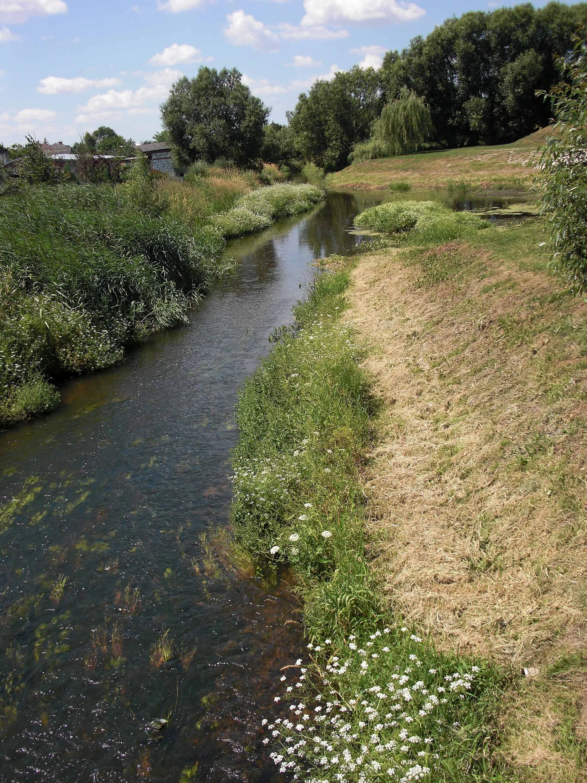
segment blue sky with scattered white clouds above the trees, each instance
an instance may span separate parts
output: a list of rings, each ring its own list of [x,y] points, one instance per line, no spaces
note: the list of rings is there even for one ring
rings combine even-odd
[[[137,143],[160,130],[180,76],[236,67],[286,121],[317,78],[379,67],[448,16],[495,0],[0,0],[0,142],[74,143],[109,125]],[[513,5],[506,2],[505,5]],[[535,5],[544,5],[537,2]]]

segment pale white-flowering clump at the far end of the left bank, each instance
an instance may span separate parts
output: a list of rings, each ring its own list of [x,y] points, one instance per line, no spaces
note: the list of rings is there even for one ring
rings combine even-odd
[[[313,185],[272,185],[241,196],[228,211],[214,215],[212,225],[223,236],[243,236],[271,226],[274,220],[296,215],[324,198],[324,191]]]

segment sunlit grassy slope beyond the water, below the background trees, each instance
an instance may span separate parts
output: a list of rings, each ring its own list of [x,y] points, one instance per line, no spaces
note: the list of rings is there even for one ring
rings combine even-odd
[[[463,147],[365,161],[329,175],[326,184],[331,189],[383,190],[401,182],[414,189],[466,182],[471,188],[524,189],[535,175],[535,170],[528,168],[528,160],[548,130],[542,128],[502,146]]]

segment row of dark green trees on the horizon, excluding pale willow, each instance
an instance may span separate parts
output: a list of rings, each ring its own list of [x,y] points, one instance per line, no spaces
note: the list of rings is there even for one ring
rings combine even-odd
[[[161,106],[164,134],[183,165],[225,157],[241,166],[311,161],[333,171],[371,138],[384,107],[402,96],[416,106],[415,96],[430,115],[420,148],[508,143],[548,124],[549,105],[536,93],[559,80],[556,58],[572,51],[585,23],[587,3],[524,3],[452,17],[402,52],[387,52],[379,70],[355,66],[316,81],[287,125],[267,124],[268,107],[238,70],[202,67],[171,88]]]

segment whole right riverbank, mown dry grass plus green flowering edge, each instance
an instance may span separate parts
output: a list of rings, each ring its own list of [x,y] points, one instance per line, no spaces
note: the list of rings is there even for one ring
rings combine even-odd
[[[335,727],[355,732],[296,707],[332,746],[325,762],[300,748],[312,737],[286,709],[268,716],[274,759],[302,780],[358,780],[370,754],[369,780],[418,763],[394,745],[394,713],[379,710],[376,742],[359,714],[394,674],[409,680],[410,660],[477,678],[466,718],[454,704],[434,716],[458,734],[430,743],[438,759],[423,749],[435,780],[584,779],[587,311],[549,276],[542,233],[532,220],[326,259],[297,309],[301,334],[283,333],[243,392],[237,536],[294,568],[314,645],[283,699],[300,687],[303,702],[330,700]],[[435,674],[418,677],[438,691]],[[431,711],[401,709],[413,736],[434,738]]]

